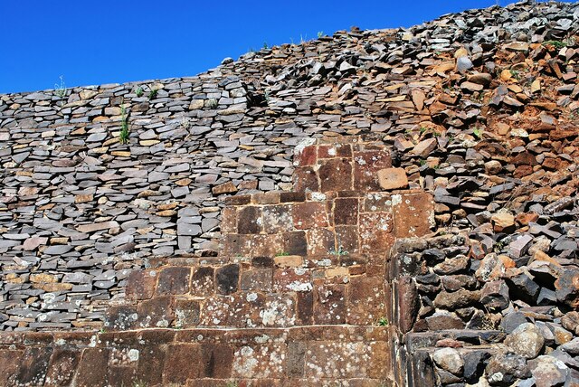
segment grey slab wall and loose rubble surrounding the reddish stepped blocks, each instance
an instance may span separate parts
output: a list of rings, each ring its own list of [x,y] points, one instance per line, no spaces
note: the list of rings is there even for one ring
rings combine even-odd
[[[441,384],[573,385],[578,26],[579,5],[519,3],[0,96],[0,328],[99,327],[132,269],[216,254],[225,196],[289,190],[303,139],[362,135],[436,202],[432,239],[393,252],[400,345]],[[470,333],[431,335],[450,328]]]

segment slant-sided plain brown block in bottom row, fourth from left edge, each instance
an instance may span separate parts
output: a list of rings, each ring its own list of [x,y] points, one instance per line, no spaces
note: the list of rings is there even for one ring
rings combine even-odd
[[[106,387],[109,385],[109,349],[85,348],[76,373],[79,387]]]

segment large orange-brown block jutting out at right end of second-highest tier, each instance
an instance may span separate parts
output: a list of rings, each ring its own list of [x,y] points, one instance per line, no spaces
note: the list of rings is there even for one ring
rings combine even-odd
[[[398,199],[399,198],[399,199]],[[392,196],[394,236],[422,237],[431,232],[434,200],[430,193],[409,193]]]

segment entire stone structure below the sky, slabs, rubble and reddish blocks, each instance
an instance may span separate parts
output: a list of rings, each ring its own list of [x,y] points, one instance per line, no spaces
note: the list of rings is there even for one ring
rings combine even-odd
[[[0,385],[579,384],[578,31],[525,2],[0,95]]]

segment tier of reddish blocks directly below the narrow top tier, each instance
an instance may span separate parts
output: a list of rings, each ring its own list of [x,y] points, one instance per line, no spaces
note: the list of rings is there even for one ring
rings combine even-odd
[[[385,257],[396,238],[433,222],[422,190],[261,193],[234,196],[223,210],[223,255],[355,253]]]

